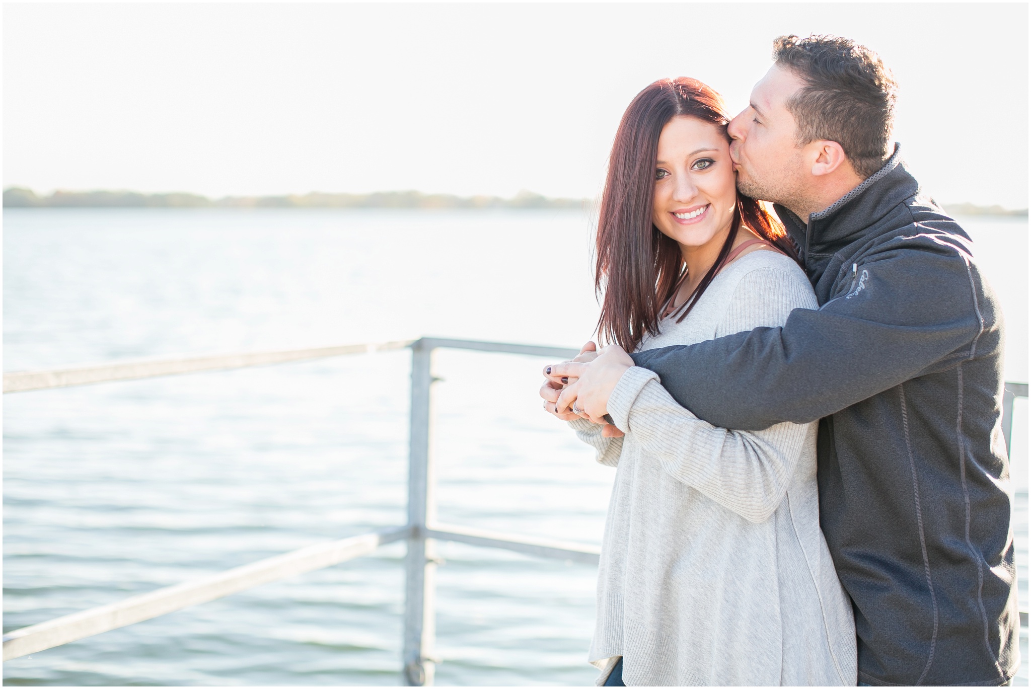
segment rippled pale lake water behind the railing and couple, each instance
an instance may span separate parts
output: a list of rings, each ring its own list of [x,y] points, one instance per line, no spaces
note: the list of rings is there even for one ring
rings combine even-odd
[[[4,370],[442,335],[577,347],[573,211],[6,209]],[[1028,380],[1028,225],[967,219]],[[408,354],[4,397],[4,630],[401,524]],[[540,359],[441,351],[442,521],[600,542]],[[1015,420],[1027,555],[1027,405]],[[442,685],[585,685],[592,567],[441,544]],[[5,663],[6,684],[393,685],[403,546]],[[1027,600],[1022,567],[1022,600]],[[1025,649],[1025,657],[1027,656]]]

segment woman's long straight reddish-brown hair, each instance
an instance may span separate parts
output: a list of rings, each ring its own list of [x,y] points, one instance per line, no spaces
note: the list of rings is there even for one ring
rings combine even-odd
[[[598,218],[594,286],[604,293],[599,337],[627,352],[637,349],[644,333],[659,332],[660,309],[673,296],[686,270],[679,244],[652,222],[659,135],[666,123],[681,116],[713,124],[725,133],[730,123],[723,97],[709,87],[686,76],[662,79],[630,103],[612,144]],[[712,282],[742,222],[789,256],[797,256],[784,226],[759,201],[738,192],[730,234],[678,322]]]

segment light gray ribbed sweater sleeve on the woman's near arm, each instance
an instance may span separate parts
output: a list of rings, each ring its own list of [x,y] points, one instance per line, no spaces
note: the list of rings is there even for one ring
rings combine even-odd
[[[717,333],[778,325],[793,308],[816,305],[800,271],[759,268],[738,282]],[[759,431],[713,426],[680,406],[656,373],[636,366],[612,391],[608,413],[667,473],[751,522],[766,521],[777,508],[812,441],[807,424]]]

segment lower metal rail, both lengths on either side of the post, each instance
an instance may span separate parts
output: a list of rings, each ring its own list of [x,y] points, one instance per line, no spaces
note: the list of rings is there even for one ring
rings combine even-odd
[[[341,540],[307,546],[201,580],[167,586],[114,603],[15,629],[3,635],[3,659],[5,661],[12,660],[30,653],[45,651],[55,646],[62,646],[87,636],[126,627],[185,608],[239,593],[262,584],[330,567],[369,555],[379,546],[408,538],[412,535],[411,530],[409,526],[401,526]],[[526,555],[572,560],[593,565],[598,564],[600,553],[597,548],[580,544],[511,536],[496,531],[442,524],[438,525],[438,528],[427,529],[423,537],[502,548]]]

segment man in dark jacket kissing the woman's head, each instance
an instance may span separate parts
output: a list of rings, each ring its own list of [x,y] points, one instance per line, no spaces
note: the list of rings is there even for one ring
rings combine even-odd
[[[773,57],[730,124],[731,156],[740,191],[774,202],[820,309],[689,347],[609,347],[552,366],[578,380],[541,396],[605,423],[636,365],[717,426],[821,419],[821,526],[853,600],[860,683],[1006,684],[1020,619],[999,303],[967,234],[889,150],[879,58],[823,36],[777,38]]]

